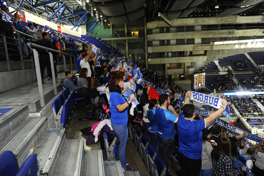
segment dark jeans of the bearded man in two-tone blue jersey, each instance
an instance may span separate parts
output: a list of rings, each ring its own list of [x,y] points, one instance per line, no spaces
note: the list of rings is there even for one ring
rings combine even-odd
[[[167,169],[169,168],[170,157],[172,156],[172,151],[174,148],[174,138],[161,138],[159,135],[159,156],[161,160],[165,163]]]

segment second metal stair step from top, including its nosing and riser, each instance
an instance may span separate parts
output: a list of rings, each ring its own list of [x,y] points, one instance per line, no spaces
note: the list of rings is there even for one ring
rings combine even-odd
[[[36,146],[40,136],[47,129],[47,118],[30,117],[18,128],[12,131],[0,143],[0,153],[11,150],[18,160],[20,167],[25,161],[29,150]]]

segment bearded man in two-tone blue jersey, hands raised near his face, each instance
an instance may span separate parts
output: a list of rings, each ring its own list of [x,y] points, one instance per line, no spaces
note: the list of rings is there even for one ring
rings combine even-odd
[[[170,105],[168,94],[160,94],[159,101],[161,106],[155,114],[158,124],[159,156],[168,169],[174,148],[174,123],[177,123],[179,115]]]

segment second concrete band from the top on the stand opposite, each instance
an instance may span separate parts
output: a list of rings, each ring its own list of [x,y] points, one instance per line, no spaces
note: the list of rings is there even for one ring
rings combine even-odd
[[[169,33],[153,33],[149,34],[148,41],[153,40],[170,40],[185,38],[209,38],[209,37],[236,37],[236,36],[260,36],[261,29],[225,29],[210,31],[189,31],[189,32],[169,32]]]

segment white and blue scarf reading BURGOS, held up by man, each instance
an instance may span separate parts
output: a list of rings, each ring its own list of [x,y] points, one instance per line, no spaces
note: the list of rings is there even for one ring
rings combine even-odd
[[[221,108],[222,106],[222,98],[219,98],[213,95],[207,95],[205,93],[199,93],[199,92],[192,91],[190,100],[194,100],[198,103],[206,104],[206,105],[209,105],[217,109]],[[226,118],[228,118],[228,120],[231,121],[229,104],[226,105],[226,109],[223,112],[223,114],[226,116]]]

